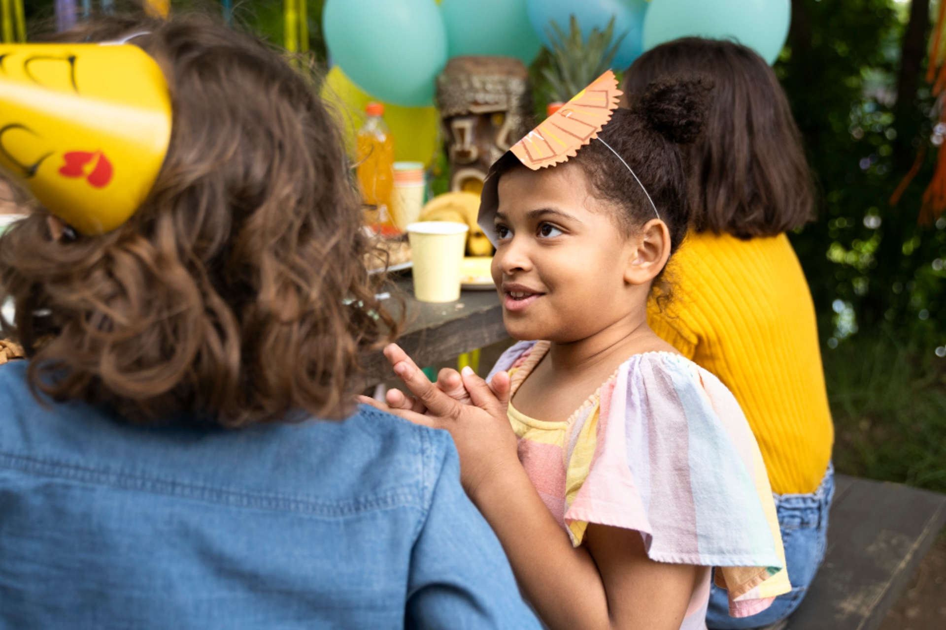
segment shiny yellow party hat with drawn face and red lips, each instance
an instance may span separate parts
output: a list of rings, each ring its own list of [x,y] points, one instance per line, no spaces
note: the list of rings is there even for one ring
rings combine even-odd
[[[165,160],[161,68],[131,44],[0,44],[0,167],[83,234],[127,221]]]

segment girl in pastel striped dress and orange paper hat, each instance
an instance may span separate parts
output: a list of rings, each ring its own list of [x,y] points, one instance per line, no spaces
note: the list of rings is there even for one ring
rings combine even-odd
[[[735,616],[790,585],[743,412],[647,325],[689,223],[678,145],[706,89],[663,81],[614,111],[616,88],[610,73],[588,86],[486,180],[493,279],[522,341],[488,383],[464,368],[439,385],[389,346],[413,396],[377,404],[453,435],[467,494],[550,628],[705,628],[711,579]]]

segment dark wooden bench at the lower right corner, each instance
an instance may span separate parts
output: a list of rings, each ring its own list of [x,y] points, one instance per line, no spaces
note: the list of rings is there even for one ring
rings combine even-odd
[[[946,495],[837,475],[824,564],[784,627],[875,630],[944,525]]]

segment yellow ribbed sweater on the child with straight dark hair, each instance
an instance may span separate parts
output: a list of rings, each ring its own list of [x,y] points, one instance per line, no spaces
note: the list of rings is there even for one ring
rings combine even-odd
[[[673,297],[662,311],[651,300],[651,327],[739,400],[772,491],[814,492],[834,429],[815,304],[788,237],[690,233],[667,280]]]

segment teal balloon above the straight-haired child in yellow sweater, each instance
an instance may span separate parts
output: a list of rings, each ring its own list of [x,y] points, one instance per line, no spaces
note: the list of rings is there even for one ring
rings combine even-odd
[[[791,0],[652,0],[644,17],[644,50],[681,37],[734,40],[771,64],[785,45],[791,18]]]

